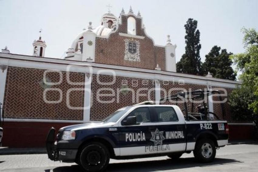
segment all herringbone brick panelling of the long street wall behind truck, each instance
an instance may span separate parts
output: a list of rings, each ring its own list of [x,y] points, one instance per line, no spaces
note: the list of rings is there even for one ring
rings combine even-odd
[[[8,67],[7,71],[7,81],[5,89],[5,118],[15,118],[15,119],[60,119],[60,120],[83,120],[83,110],[73,110],[66,105],[66,92],[70,88],[83,88],[80,85],[70,85],[66,81],[66,73],[63,74],[63,81],[59,85],[53,85],[51,88],[60,88],[62,90],[62,101],[60,103],[49,104],[43,100],[42,86],[44,70],[39,69],[27,69],[20,67]],[[47,73],[47,78],[49,82],[58,82],[59,73],[51,72]],[[84,82],[84,74],[82,73],[71,73],[70,79],[73,82]],[[100,75],[99,80],[101,82],[111,82],[113,80],[112,76]],[[127,81],[127,87],[124,87],[122,82]],[[144,80],[148,84],[143,85],[142,79],[134,79],[127,77],[116,77],[115,83],[111,85],[101,85],[97,82],[97,75],[93,75],[92,88],[92,108],[90,112],[90,120],[102,120],[112,112],[124,106],[133,105],[138,102],[148,100],[147,96],[133,98],[133,93],[127,91],[126,94],[119,93],[119,100],[117,100],[117,89],[119,88],[132,88],[134,90],[134,96],[139,88],[154,88],[153,80]],[[135,84],[137,83],[137,84]],[[179,84],[178,82],[167,82],[161,81],[161,89],[164,89],[167,93],[171,88],[185,88],[187,91],[189,89],[205,89],[206,85],[198,84]],[[100,100],[110,101],[114,99],[112,103],[101,103],[97,101],[97,91],[100,88],[111,88],[114,90],[114,96],[112,97],[100,97]],[[141,93],[147,93],[147,91],[142,91]],[[228,94],[232,89],[226,89]],[[171,94],[175,94],[182,90],[174,90]],[[110,94],[111,91],[100,91],[100,94]],[[70,105],[73,107],[83,107],[83,91],[72,91],[70,94]],[[161,97],[164,96],[164,92],[161,91]],[[154,100],[154,91],[151,92],[151,100]],[[59,100],[60,95],[58,91],[48,91],[46,93],[46,99],[48,101]],[[218,100],[218,98],[213,98]],[[224,98],[223,98],[224,99]],[[166,102],[166,104],[169,104]],[[178,104],[180,108],[184,108],[183,104]],[[191,111],[191,103],[188,102],[188,111]],[[195,105],[196,107],[197,105]],[[101,107],[101,108],[99,108]],[[222,118],[222,111],[220,104],[213,104],[214,113]],[[224,103],[225,117],[226,120],[232,122],[231,112],[229,104]],[[194,109],[197,111],[197,108]]]

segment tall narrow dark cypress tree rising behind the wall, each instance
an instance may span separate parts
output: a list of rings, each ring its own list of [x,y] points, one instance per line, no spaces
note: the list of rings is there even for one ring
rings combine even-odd
[[[185,24],[185,54],[177,63],[177,72],[186,74],[202,74],[200,58],[200,32],[197,21],[189,18]]]

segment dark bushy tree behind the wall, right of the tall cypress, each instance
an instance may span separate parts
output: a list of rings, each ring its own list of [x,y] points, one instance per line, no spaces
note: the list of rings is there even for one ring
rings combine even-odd
[[[232,60],[229,58],[233,53],[228,53],[226,49],[221,50],[219,46],[213,46],[211,51],[205,55],[205,62],[203,63],[203,73],[208,72],[213,77],[221,79],[236,80],[236,72],[232,69]]]

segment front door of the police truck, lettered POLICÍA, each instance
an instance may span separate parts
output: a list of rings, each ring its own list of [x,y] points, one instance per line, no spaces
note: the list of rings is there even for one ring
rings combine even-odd
[[[136,116],[136,125],[123,125],[129,116]],[[138,107],[122,119],[119,127],[120,156],[145,154],[146,146],[151,145],[151,132],[155,131],[152,119],[148,107]]]

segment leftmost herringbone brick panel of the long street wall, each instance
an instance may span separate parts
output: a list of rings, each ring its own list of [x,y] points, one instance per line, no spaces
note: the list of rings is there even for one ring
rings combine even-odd
[[[60,88],[63,99],[60,103],[49,104],[44,102],[42,88],[44,70],[28,69],[21,67],[8,67],[5,86],[5,118],[17,119],[61,119],[82,120],[83,110],[72,110],[66,106],[66,92],[70,88],[84,88],[83,85],[70,85],[66,81],[66,73],[63,81],[51,88]],[[47,73],[49,82],[58,82],[59,73]],[[84,82],[83,73],[70,73],[70,81]],[[83,107],[83,91],[72,91],[70,93],[70,105]],[[58,91],[46,92],[48,101],[58,101]]]

